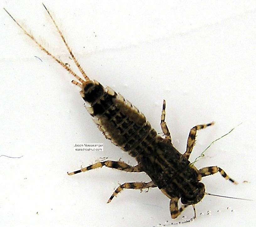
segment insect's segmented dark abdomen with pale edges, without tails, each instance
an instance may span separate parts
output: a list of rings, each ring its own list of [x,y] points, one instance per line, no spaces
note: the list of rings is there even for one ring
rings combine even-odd
[[[107,139],[133,157],[145,151],[153,152],[157,132],[130,102],[96,81],[85,85],[80,93],[90,105],[88,112]]]

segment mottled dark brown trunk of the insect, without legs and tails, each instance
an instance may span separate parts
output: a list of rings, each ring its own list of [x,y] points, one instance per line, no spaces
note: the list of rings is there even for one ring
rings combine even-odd
[[[135,157],[138,169],[146,172],[164,194],[169,198],[198,196],[203,187],[198,183],[198,170],[190,166],[170,139],[157,135],[136,107],[98,82],[89,81],[80,94],[105,137]]]

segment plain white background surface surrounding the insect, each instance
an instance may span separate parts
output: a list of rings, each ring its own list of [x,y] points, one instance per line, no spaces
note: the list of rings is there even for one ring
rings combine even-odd
[[[243,122],[196,166],[218,165],[239,182],[215,174],[202,180],[207,192],[255,200],[255,1],[44,3],[89,77],[120,92],[159,133],[166,99],[166,121],[181,153],[191,127],[216,122],[198,132],[191,161]],[[106,204],[119,184],[148,181],[146,174],[108,168],[66,174],[104,157],[136,162],[104,138],[72,76],[3,7],[74,68],[41,0],[1,3],[0,154],[23,155],[0,157],[1,226],[163,226],[192,217],[189,207],[172,220],[169,199],[157,189],[127,189]],[[74,143],[104,143],[104,152],[75,153]],[[198,218],[183,226],[254,226],[254,206],[205,196]]]

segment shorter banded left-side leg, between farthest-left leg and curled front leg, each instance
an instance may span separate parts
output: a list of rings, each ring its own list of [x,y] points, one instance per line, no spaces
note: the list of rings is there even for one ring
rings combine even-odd
[[[115,189],[114,193],[110,196],[109,200],[107,203],[110,203],[111,200],[116,196],[118,193],[123,191],[123,189],[145,189],[145,188],[155,188],[157,185],[150,181],[150,182],[131,182],[131,183],[124,183],[120,185],[117,189]]]

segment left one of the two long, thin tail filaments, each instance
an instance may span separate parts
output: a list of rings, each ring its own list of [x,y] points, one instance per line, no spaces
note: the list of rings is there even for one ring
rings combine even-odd
[[[69,73],[71,73],[77,80],[79,80],[79,82],[81,82],[82,84],[85,83],[85,81],[82,78],[80,78],[79,76],[77,76],[77,74],[72,69],[70,69],[67,65],[65,65],[60,59],[58,59],[54,55],[52,55],[48,50],[46,50],[46,48],[44,46],[42,46],[40,43],[38,43],[37,40],[35,39],[35,37],[32,34],[30,34],[29,32],[27,32],[25,30],[25,28],[23,28],[5,8],[3,8],[3,9],[5,10],[6,13],[8,13],[8,15],[13,19],[13,21],[23,30],[23,32],[27,36],[29,36],[37,44],[37,46],[40,47],[40,49],[42,51],[44,51],[45,53],[50,55],[57,63],[59,63],[63,68],[65,68]],[[82,88],[82,84],[77,83],[76,85]]]

